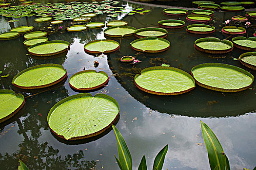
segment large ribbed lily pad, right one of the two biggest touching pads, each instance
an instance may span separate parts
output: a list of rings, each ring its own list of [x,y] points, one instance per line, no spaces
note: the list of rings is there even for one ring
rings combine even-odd
[[[198,85],[222,92],[245,90],[254,81],[254,76],[248,71],[222,63],[199,64],[192,68],[191,73]]]

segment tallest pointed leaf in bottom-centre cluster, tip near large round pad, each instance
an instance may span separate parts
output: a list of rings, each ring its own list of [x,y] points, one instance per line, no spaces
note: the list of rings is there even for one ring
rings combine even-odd
[[[132,156],[125,143],[125,140],[116,126],[112,125],[115,132],[117,145],[118,145],[118,157],[123,170],[132,170]]]

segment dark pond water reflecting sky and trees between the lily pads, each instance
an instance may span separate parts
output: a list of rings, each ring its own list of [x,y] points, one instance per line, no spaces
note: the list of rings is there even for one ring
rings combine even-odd
[[[56,3],[55,0],[42,3]],[[168,18],[163,15],[163,8],[143,6],[122,1],[120,6],[136,9],[144,7],[151,9],[146,15],[118,17],[129,22],[135,28],[158,27],[158,21]],[[175,4],[174,4],[175,5]],[[186,5],[185,5],[186,6]],[[188,5],[191,7],[191,5]],[[221,34],[223,21],[245,12],[215,12],[210,25],[216,27],[216,33],[208,37],[229,39]],[[124,16],[124,15],[123,15]],[[108,21],[116,18],[98,15],[93,21]],[[181,17],[181,20],[186,20]],[[250,20],[252,27],[245,36],[253,36],[256,22]],[[64,22],[69,25],[70,22]],[[191,24],[186,21],[186,26]],[[232,25],[235,23],[231,23]],[[49,23],[35,23],[34,17],[23,17],[20,21],[10,24],[4,17],[0,18],[0,32],[9,31],[13,27],[33,25],[35,30],[44,30]],[[26,103],[21,111],[13,118],[0,124],[0,167],[4,170],[14,170],[18,167],[18,159],[22,159],[31,170],[116,170],[118,165],[114,158],[117,153],[117,144],[114,132],[110,129],[96,138],[66,142],[53,135],[47,124],[47,114],[50,108],[60,100],[77,94],[68,85],[68,79],[74,73],[86,69],[105,71],[109,77],[108,86],[91,92],[104,93],[114,97],[120,106],[120,118],[117,128],[125,138],[133,157],[136,169],[143,154],[146,156],[148,168],[151,169],[154,158],[166,144],[169,150],[166,155],[163,169],[166,170],[206,170],[209,169],[207,151],[203,143],[200,120],[207,123],[216,133],[222,147],[229,157],[233,170],[243,168],[253,169],[256,164],[256,83],[251,89],[237,93],[215,92],[202,87],[177,96],[150,95],[135,88],[133,77],[143,68],[159,66],[163,63],[172,67],[181,68],[190,72],[197,64],[206,62],[226,63],[250,71],[237,60],[245,51],[234,50],[225,55],[211,55],[194,49],[196,39],[202,35],[186,33],[186,29],[168,30],[168,39],[171,48],[168,51],[149,54],[133,51],[130,43],[134,36],[126,38],[112,38],[120,42],[120,51],[109,55],[92,56],[83,50],[84,44],[96,39],[105,39],[103,30],[91,29],[79,33],[67,33],[65,30],[49,34],[49,40],[65,40],[71,43],[67,53],[58,56],[39,59],[26,55],[27,49],[23,46],[23,37],[14,40],[0,41],[0,70],[7,78],[0,78],[0,89],[13,89],[22,93]],[[124,55],[136,55],[142,62],[126,65],[119,62]],[[99,62],[94,68],[93,62]],[[56,63],[67,69],[68,79],[62,84],[55,85],[42,92],[20,91],[11,85],[13,77],[21,70],[38,64]],[[47,91],[46,91],[47,90]],[[42,92],[42,93],[40,93]],[[39,94],[37,94],[39,93]],[[36,94],[36,95],[34,95]],[[34,95],[31,96],[30,95]],[[209,104],[210,101],[217,103]],[[211,102],[210,102],[211,103]],[[202,143],[202,144],[201,144]],[[202,145],[202,146],[201,146]]]

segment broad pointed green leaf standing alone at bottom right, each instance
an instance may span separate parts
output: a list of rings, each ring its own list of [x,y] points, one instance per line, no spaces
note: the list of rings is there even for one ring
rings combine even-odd
[[[217,168],[217,170],[225,170],[226,167],[226,155],[217,136],[210,129],[207,124],[201,121],[201,129],[203,134],[204,143],[207,149],[208,158],[211,170]],[[227,162],[228,163],[228,162]],[[229,163],[228,166],[229,167]]]

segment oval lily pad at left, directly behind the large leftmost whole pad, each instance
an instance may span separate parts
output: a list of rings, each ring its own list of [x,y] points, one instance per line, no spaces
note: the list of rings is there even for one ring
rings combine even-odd
[[[69,42],[54,40],[30,46],[28,52],[35,56],[51,56],[66,51],[68,47]]]

